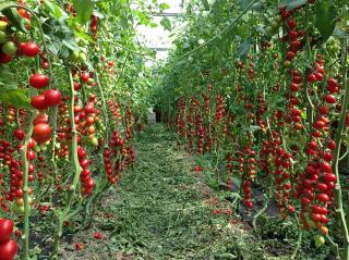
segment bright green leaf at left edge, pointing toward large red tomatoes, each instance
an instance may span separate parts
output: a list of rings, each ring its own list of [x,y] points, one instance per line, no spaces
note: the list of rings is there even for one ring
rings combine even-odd
[[[0,91],[0,101],[15,108],[31,108],[27,91],[24,89],[10,89]]]

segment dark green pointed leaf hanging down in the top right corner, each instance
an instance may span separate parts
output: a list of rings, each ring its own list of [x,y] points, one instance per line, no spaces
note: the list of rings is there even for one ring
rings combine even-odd
[[[333,34],[336,27],[337,9],[330,1],[316,1],[316,21],[315,26],[325,42]]]

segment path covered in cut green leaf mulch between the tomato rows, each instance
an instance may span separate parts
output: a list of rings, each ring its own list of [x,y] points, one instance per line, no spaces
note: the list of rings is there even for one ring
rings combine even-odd
[[[284,249],[263,244],[234,213],[212,213],[229,202],[209,203],[215,193],[204,183],[206,173],[193,171],[195,160],[177,151],[166,126],[148,126],[135,147],[135,168],[103,200],[94,227],[63,245],[63,259],[290,259],[291,251],[273,257]],[[104,239],[93,238],[97,231]],[[76,243],[84,249],[76,251]]]

